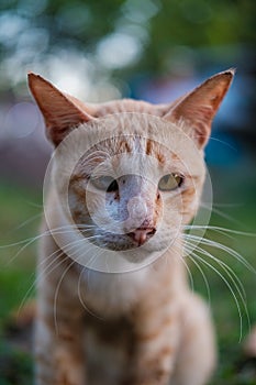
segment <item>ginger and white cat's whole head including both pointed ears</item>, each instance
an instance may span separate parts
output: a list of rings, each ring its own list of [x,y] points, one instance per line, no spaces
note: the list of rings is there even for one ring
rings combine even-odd
[[[180,237],[199,206],[203,147],[233,76],[220,73],[170,105],[84,105],[29,75],[56,146],[58,199],[82,237],[103,250],[132,251],[124,254],[134,262]]]

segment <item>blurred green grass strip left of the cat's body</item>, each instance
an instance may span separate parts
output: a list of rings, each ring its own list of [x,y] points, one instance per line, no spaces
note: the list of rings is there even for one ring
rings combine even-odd
[[[34,296],[36,244],[19,242],[36,235],[42,202],[40,194],[5,184],[0,207],[0,385],[30,385],[31,354],[5,334],[12,314]]]

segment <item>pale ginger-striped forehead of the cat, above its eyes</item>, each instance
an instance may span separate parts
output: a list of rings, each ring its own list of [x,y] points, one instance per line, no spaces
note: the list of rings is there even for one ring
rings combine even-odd
[[[57,148],[58,169],[73,174],[97,165],[112,168],[143,162],[186,174],[201,173],[202,153],[178,125],[146,113],[115,113],[81,124]],[[147,160],[147,161],[145,161]],[[188,173],[186,170],[189,170]],[[130,172],[130,173],[131,173]]]

